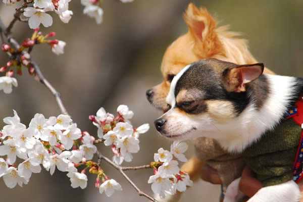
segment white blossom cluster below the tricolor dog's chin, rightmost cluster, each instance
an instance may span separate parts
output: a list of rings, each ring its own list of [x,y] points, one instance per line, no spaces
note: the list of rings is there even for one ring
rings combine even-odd
[[[170,151],[159,148],[158,153],[154,155],[155,162],[151,163],[154,167],[154,175],[149,177],[148,183],[153,183],[151,189],[161,198],[165,198],[167,193],[173,195],[177,190],[185,191],[186,186],[192,185],[189,175],[180,171],[178,162],[172,160],[174,156],[179,161],[186,162],[183,153],[187,147],[185,142],[174,141]]]

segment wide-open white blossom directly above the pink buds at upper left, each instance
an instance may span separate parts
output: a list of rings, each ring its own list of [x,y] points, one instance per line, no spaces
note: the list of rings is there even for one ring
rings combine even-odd
[[[27,7],[24,9],[23,15],[29,17],[28,25],[31,29],[36,29],[41,23],[44,27],[49,27],[53,24],[52,16],[47,14],[45,9]]]

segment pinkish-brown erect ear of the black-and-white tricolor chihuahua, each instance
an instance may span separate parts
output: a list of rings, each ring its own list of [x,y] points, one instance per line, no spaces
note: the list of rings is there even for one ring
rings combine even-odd
[[[223,85],[228,92],[244,92],[245,84],[261,76],[263,70],[263,63],[228,68],[223,72]]]

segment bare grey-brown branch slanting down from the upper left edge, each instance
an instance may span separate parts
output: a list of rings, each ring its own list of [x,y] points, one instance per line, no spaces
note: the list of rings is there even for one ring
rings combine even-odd
[[[0,19],[0,32],[3,33],[4,30],[8,30],[5,25],[3,24],[2,20]],[[11,36],[11,34],[4,33],[7,37],[8,37],[8,41],[9,43],[11,43],[11,45],[15,48],[18,49],[20,47],[20,44]],[[38,75],[39,81],[45,85],[49,91],[52,92],[52,94],[55,96],[57,104],[60,108],[61,114],[65,114],[65,115],[69,115],[67,110],[65,109],[61,97],[60,97],[60,93],[52,86],[51,83],[49,83],[43,76],[39,66],[36,64],[36,62],[32,59],[30,59],[31,64],[33,65],[33,67],[35,68],[35,71]]]

